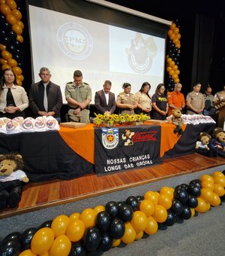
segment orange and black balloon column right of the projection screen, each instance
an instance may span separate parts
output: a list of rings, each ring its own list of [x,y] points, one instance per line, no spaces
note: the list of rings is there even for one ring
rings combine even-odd
[[[168,30],[168,55],[166,55],[166,72],[167,72],[167,81],[169,91],[173,90],[174,84],[179,83],[180,79],[178,75],[180,74],[179,66],[179,56],[181,48],[181,34],[179,33],[178,20],[175,23],[172,21],[172,24],[169,26]]]

